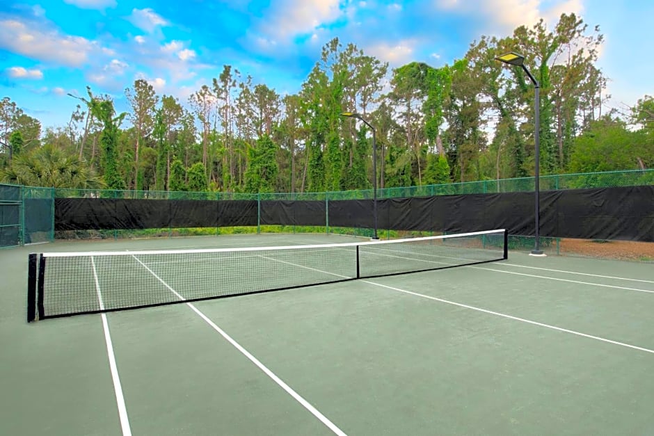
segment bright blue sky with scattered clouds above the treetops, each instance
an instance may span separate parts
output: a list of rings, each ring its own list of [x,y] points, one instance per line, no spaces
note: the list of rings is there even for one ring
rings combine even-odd
[[[63,126],[78,103],[67,93],[84,96],[87,85],[119,110],[136,79],[186,102],[225,64],[284,94],[299,90],[334,37],[391,67],[439,67],[481,35],[541,17],[552,26],[564,12],[605,35],[609,106],[654,94],[651,0],[1,0],[0,97],[44,127]]]

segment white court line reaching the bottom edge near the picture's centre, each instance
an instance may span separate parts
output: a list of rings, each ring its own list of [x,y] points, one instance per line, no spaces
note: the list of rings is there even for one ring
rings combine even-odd
[[[139,259],[138,259],[136,256],[134,256],[134,255],[132,255],[132,257],[134,257],[134,259],[136,259],[136,261],[138,261],[138,263],[141,264],[141,265],[143,266],[143,268],[145,268],[147,271],[149,271],[150,274],[152,274],[152,275],[154,276],[154,278],[156,278],[157,280],[159,280],[159,282],[161,282],[161,284],[163,284],[163,286],[166,286],[166,288],[167,288],[170,292],[174,293],[175,296],[177,296],[177,298],[179,298],[179,299],[182,300],[182,301],[186,301],[186,298],[184,298],[183,296],[181,296],[180,293],[177,293],[177,291],[175,291],[175,289],[173,289],[172,287],[170,287],[170,286],[168,285],[168,283],[164,282],[164,281],[161,279],[161,277],[159,277],[157,274],[155,274],[154,271],[152,271],[150,268],[147,267],[147,265],[143,264],[143,262],[142,262],[141,260],[139,260]],[[335,425],[335,423],[333,423],[332,421],[330,421],[330,420],[329,420],[329,419],[328,419],[324,414],[322,414],[321,412],[319,412],[319,410],[317,410],[315,407],[313,407],[313,405],[311,405],[311,403],[309,403],[308,401],[306,401],[306,400],[305,400],[305,399],[304,399],[300,394],[298,394],[296,391],[294,391],[294,390],[292,389],[292,387],[290,387],[289,385],[287,385],[287,384],[284,382],[284,380],[282,380],[281,378],[279,378],[275,373],[273,373],[273,371],[271,371],[271,370],[268,369],[264,364],[262,364],[262,362],[260,362],[260,360],[258,360],[258,359],[257,359],[254,355],[252,355],[248,350],[246,350],[243,346],[241,346],[241,344],[239,344],[237,341],[235,341],[234,339],[232,339],[232,337],[230,337],[229,334],[227,334],[223,329],[221,329],[220,327],[218,327],[218,325],[216,325],[216,324],[215,324],[211,319],[209,319],[205,314],[203,314],[202,312],[200,312],[200,309],[198,309],[197,307],[195,307],[195,306],[194,306],[193,304],[191,304],[190,302],[186,302],[185,304],[186,304],[187,306],[189,306],[189,307],[191,308],[191,310],[193,310],[193,312],[196,312],[196,314],[198,314],[198,316],[200,316],[200,318],[202,318],[203,320],[205,320],[205,322],[206,322],[207,324],[209,324],[209,325],[211,326],[211,328],[213,328],[214,330],[216,330],[216,332],[218,332],[219,334],[221,334],[221,336],[222,336],[223,338],[225,338],[225,340],[228,341],[230,344],[232,344],[232,346],[234,346],[234,348],[236,348],[237,350],[239,350],[239,351],[241,352],[242,355],[244,355],[245,357],[247,357],[248,360],[250,360],[250,362],[252,362],[253,364],[255,364],[255,365],[256,365],[256,366],[257,366],[261,371],[263,371],[263,372],[266,374],[266,376],[269,376],[269,378],[271,378],[274,382],[276,382],[277,385],[279,385],[279,387],[281,387],[282,389],[284,389],[284,390],[287,392],[287,394],[289,394],[290,396],[292,396],[292,397],[293,397],[293,398],[294,398],[298,403],[300,403],[301,405],[303,405],[303,407],[305,407],[306,410],[308,410],[309,412],[311,412],[311,414],[312,414],[314,417],[316,417],[316,418],[319,419],[322,423],[324,423],[325,426],[327,426],[330,430],[333,431],[333,433],[335,433],[336,435],[339,435],[339,436],[346,436],[346,434],[345,434],[345,433],[344,433],[340,428],[338,428],[338,427]]]

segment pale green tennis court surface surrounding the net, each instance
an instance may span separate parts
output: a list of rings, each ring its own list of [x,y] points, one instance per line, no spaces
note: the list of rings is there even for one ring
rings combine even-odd
[[[25,321],[29,252],[352,241],[236,235],[1,250],[0,434],[654,434],[652,264],[509,252],[440,271]],[[185,286],[167,271],[156,268],[162,292]],[[70,286],[84,274],[72,271]]]

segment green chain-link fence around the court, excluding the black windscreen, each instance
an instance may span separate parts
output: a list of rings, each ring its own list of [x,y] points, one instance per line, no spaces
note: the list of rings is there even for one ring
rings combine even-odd
[[[540,177],[541,191],[579,188],[604,188],[612,186],[639,186],[654,184],[654,169],[611,172],[589,172],[580,174],[544,175]],[[0,246],[13,246],[22,243],[38,243],[56,239],[122,239],[137,237],[171,237],[206,234],[233,234],[257,232],[320,232],[351,234],[353,236],[372,236],[373,229],[295,226],[295,225],[257,225],[256,227],[216,227],[201,229],[143,229],[143,230],[97,230],[54,232],[54,198],[122,198],[135,200],[289,200],[324,201],[332,200],[372,200],[372,189],[356,191],[329,191],[318,193],[225,193],[225,192],[170,192],[170,191],[111,191],[102,189],[61,189],[28,188],[0,185]],[[534,177],[519,179],[500,179],[469,181],[402,188],[380,188],[377,198],[427,197],[433,195],[465,195],[483,193],[507,193],[534,191]],[[393,232],[379,229],[381,238],[407,236],[410,232]],[[413,236],[413,235],[408,235]],[[420,236],[420,235],[415,235]],[[515,241],[514,245],[520,245]],[[529,245],[525,239],[525,245]]]

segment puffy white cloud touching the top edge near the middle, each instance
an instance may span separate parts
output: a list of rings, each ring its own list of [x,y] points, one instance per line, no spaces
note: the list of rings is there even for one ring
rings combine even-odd
[[[271,40],[289,40],[311,33],[340,17],[339,0],[280,0],[271,2],[260,31]]]

